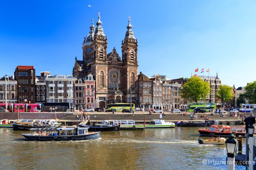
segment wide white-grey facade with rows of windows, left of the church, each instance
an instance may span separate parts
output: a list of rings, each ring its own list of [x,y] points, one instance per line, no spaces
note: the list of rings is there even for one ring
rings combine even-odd
[[[53,102],[70,102],[74,104],[74,81],[69,75],[46,75],[45,82],[47,88],[46,101]]]

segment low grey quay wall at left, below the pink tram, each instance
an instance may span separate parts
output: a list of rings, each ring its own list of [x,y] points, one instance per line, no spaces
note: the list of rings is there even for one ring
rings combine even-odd
[[[0,120],[9,119],[16,120],[17,113],[15,112],[0,112]],[[73,115],[73,113],[19,113],[19,119],[61,119],[67,116]]]

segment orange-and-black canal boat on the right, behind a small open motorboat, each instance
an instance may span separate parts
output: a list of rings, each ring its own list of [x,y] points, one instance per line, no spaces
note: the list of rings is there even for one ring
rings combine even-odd
[[[245,126],[230,127],[227,125],[211,125],[208,129],[198,129],[198,132],[203,136],[228,137],[232,132],[235,132],[236,136],[245,136]]]

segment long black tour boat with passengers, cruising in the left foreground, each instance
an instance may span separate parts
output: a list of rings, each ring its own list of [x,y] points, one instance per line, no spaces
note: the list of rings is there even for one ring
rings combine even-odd
[[[26,139],[38,141],[77,141],[100,138],[100,132],[88,132],[88,127],[31,128],[30,133],[21,135]]]

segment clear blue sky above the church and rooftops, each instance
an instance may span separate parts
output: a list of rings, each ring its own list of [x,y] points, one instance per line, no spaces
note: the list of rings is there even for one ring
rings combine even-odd
[[[223,84],[245,86],[256,80],[255,9],[253,0],[0,1],[0,77],[17,65],[72,75],[100,12],[108,53],[115,47],[120,57],[131,16],[138,72],[176,79],[209,68]]]

